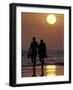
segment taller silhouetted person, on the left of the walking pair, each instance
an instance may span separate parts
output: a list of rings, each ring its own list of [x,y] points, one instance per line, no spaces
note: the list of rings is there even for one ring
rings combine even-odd
[[[33,41],[31,42],[29,52],[28,52],[28,58],[31,57],[31,61],[33,63],[33,75],[36,76],[35,74],[35,64],[36,64],[36,57],[37,57],[37,49],[38,49],[38,43],[36,42],[36,38],[32,38]]]

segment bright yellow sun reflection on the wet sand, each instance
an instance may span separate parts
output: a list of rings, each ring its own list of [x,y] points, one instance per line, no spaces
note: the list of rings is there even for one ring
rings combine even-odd
[[[56,76],[56,65],[47,65],[46,73],[47,76]]]

